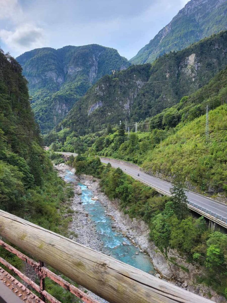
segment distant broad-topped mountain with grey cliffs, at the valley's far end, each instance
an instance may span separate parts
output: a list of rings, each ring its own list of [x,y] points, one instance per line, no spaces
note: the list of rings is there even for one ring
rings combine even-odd
[[[37,48],[16,59],[28,80],[31,106],[42,132],[59,123],[98,79],[130,65],[117,50],[96,44]]]

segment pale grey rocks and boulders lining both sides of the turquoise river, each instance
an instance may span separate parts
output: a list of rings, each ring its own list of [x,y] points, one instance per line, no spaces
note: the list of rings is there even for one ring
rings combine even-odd
[[[70,168],[61,164],[58,165],[57,169],[59,170],[59,175],[64,177],[65,170]],[[131,220],[128,215],[124,215],[118,208],[118,201],[110,201],[101,192],[97,179],[87,175],[75,176],[75,178],[82,184],[87,185],[94,192],[94,199],[99,200],[106,207],[106,214],[111,216],[115,221],[112,228],[122,231],[134,245],[140,246],[140,251],[150,255],[154,268],[158,272],[156,277],[165,278],[170,283],[174,283],[181,288],[209,298],[212,301],[219,303],[226,302],[224,297],[217,295],[211,288],[205,285],[196,285],[196,276],[201,274],[202,268],[196,264],[188,263],[184,256],[180,256],[176,250],[172,249],[168,252],[167,261],[158,248],[149,241],[149,228],[145,222],[136,219]],[[90,222],[83,205],[81,205],[81,189],[77,184],[75,184],[74,192],[75,197],[72,204],[74,215],[70,226],[72,238],[87,247],[109,254],[103,247],[95,231],[94,224]],[[73,236],[73,233],[76,235]]]

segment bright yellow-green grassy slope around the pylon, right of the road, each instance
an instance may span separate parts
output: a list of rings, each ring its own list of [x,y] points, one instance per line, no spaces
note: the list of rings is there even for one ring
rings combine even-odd
[[[205,137],[206,116],[196,118],[147,153],[143,168],[163,176],[182,171],[201,191],[222,188],[227,180],[227,105],[209,112],[209,141]]]

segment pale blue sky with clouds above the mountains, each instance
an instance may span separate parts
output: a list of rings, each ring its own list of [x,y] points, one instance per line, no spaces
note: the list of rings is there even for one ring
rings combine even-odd
[[[188,0],[0,0],[0,48],[100,44],[132,58]]]

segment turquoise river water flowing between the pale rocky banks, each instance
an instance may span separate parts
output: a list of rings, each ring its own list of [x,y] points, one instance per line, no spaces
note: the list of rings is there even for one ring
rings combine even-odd
[[[65,171],[64,179],[67,182],[74,182],[74,173],[70,170]],[[106,207],[99,200],[93,200],[94,192],[87,188],[87,185],[78,183],[81,187],[80,195],[81,205],[84,207],[85,214],[88,214],[88,220],[93,224],[96,231],[96,238],[102,242],[101,251],[107,255],[116,258],[124,263],[132,265],[151,275],[155,275],[150,256],[138,245],[133,245],[123,232],[116,230],[115,221],[107,215]],[[100,246],[98,247],[100,250]]]

